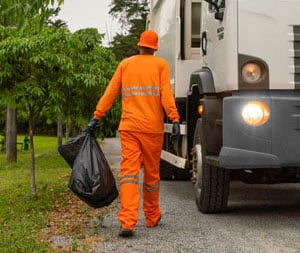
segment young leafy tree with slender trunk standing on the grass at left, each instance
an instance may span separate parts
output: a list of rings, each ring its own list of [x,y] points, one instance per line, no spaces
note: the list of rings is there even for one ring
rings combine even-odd
[[[67,73],[71,68],[71,61],[67,57],[59,55],[55,49],[57,43],[66,40],[67,33],[63,30],[44,29],[38,34],[28,34],[28,37],[18,36],[14,28],[2,27],[2,34],[9,34],[1,38],[0,71],[1,88],[4,90],[2,101],[7,104],[21,105],[28,113],[30,154],[31,154],[31,192],[36,197],[35,185],[35,161],[33,133],[34,123],[39,115],[44,113],[45,106],[50,103],[60,104],[61,93],[57,80],[54,80],[53,72],[59,69]],[[55,53],[52,53],[54,50]],[[63,75],[63,74],[61,74]],[[64,79],[64,85],[71,81]],[[56,86],[54,87],[55,84]],[[51,107],[49,113],[57,110]]]

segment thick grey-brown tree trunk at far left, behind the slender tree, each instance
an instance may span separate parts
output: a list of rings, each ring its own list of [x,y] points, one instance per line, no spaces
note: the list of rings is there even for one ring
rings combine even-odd
[[[8,162],[17,161],[17,124],[16,109],[7,107],[6,113],[6,160]]]

